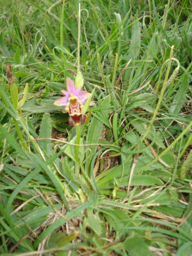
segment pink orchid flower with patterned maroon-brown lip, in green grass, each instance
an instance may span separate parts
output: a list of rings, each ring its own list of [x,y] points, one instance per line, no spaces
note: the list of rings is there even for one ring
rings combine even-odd
[[[82,114],[83,106],[91,94],[86,91],[80,91],[81,87],[75,88],[75,83],[70,78],[66,81],[67,91],[61,90],[64,97],[56,100],[54,105],[66,106],[65,110],[69,113],[68,122],[70,125],[84,124],[85,116]]]

